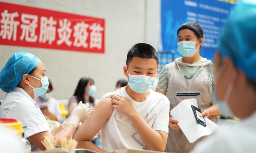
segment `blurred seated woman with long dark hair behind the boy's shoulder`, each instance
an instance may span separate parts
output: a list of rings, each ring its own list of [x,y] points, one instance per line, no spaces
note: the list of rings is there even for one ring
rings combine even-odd
[[[78,105],[80,101],[84,104],[89,103],[90,107],[96,106],[99,102],[99,99],[92,97],[92,95],[96,92],[96,86],[94,85],[94,81],[89,77],[82,77],[78,85],[76,87],[76,91],[74,96],[72,96],[68,102],[68,116],[72,113],[74,108]],[[78,124],[77,129],[82,125],[82,122]],[[91,142],[101,148],[101,133],[97,133]]]

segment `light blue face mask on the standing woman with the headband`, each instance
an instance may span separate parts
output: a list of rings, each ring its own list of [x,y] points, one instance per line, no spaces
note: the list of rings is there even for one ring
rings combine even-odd
[[[180,41],[178,42],[177,51],[180,53],[180,55],[184,57],[192,57],[196,54],[197,49],[200,47],[198,46],[197,48],[195,48],[195,44],[198,41]]]

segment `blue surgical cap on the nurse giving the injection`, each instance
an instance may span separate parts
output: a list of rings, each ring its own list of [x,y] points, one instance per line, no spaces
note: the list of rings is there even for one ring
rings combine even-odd
[[[28,52],[17,52],[10,57],[0,72],[0,88],[8,92],[16,88],[24,74],[28,74],[40,59]]]

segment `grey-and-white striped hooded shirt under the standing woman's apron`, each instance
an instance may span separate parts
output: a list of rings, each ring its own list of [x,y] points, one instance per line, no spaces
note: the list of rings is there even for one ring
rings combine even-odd
[[[156,87],[157,89],[167,91],[169,83],[170,83],[170,77],[172,76],[173,64],[176,64],[176,63],[171,62],[169,64],[166,64],[163,67],[162,71],[160,72],[159,81],[158,81],[158,84]],[[206,66],[206,70],[207,70],[206,77],[208,80],[210,95],[212,97],[212,93],[215,89],[215,85],[214,85],[214,76],[211,73],[210,68],[209,68],[210,66],[213,66],[213,63]],[[180,65],[180,64],[179,64],[179,67],[180,67],[180,77],[182,79],[192,79],[201,68],[201,67]],[[199,75],[199,73],[197,73],[196,77]]]

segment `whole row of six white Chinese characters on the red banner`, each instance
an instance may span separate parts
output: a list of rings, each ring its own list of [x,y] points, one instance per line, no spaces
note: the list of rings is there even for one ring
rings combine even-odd
[[[21,17],[17,18],[20,15]],[[41,44],[48,42],[48,45],[52,45],[53,43],[58,46],[67,45],[68,47],[73,47],[73,49],[74,47],[83,47],[101,50],[102,41],[104,39],[102,38],[104,27],[99,23],[93,23],[92,21],[86,23],[81,20],[80,22],[73,23],[74,26],[72,26],[72,22],[67,18],[57,21],[54,20],[52,16],[45,17],[26,13],[19,14],[17,11],[8,12],[8,10],[4,10],[1,12],[0,38],[2,38],[2,40],[8,39],[11,41],[12,39],[16,41],[18,37],[21,42],[37,42]],[[38,22],[40,22],[40,27],[38,27]],[[57,24],[59,24],[59,26]],[[18,34],[21,33],[21,35],[17,36],[17,32]],[[56,33],[58,33],[58,36],[56,36]]]

